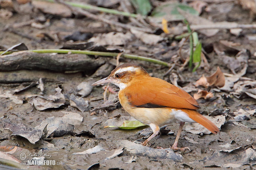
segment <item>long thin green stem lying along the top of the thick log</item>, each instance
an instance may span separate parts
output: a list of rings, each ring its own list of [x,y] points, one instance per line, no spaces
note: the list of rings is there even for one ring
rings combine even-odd
[[[99,51],[88,51],[88,50],[65,50],[65,49],[40,49],[40,50],[28,50],[34,53],[61,53],[61,54],[87,54],[87,55],[98,55],[98,56],[106,56],[106,57],[116,57],[119,53],[111,53],[111,52],[99,52]],[[2,54],[4,51],[0,51]],[[8,51],[10,54],[11,52]],[[123,54],[121,57],[128,58],[128,59],[138,59],[148,62],[153,62],[156,64],[164,65],[170,67],[171,65],[168,62],[161,61],[159,59],[152,59],[149,57],[131,55],[131,54]]]

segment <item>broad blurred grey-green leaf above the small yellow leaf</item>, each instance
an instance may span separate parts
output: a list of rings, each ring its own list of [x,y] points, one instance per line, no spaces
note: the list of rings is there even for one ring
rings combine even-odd
[[[194,8],[187,6],[182,3],[165,3],[163,5],[157,6],[151,13],[151,17],[154,17],[153,20],[161,22],[162,18],[165,18],[168,21],[180,21],[184,20],[184,17],[179,13],[177,8],[191,14],[198,16],[199,13]]]

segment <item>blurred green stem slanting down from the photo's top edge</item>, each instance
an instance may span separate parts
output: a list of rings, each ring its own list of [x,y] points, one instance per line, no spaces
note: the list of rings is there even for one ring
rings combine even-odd
[[[47,0],[47,1],[52,2],[52,3],[55,2],[54,0]],[[116,14],[116,15],[122,15],[122,16],[126,16],[126,17],[134,17],[134,18],[137,17],[137,14],[131,14],[129,12],[117,11],[114,9],[102,8],[102,7],[98,7],[98,6],[92,6],[92,5],[84,4],[84,3],[73,3],[73,2],[68,2],[68,1],[64,1],[64,3],[67,3],[68,5],[73,6],[73,7],[79,7],[79,8],[83,8],[83,9],[93,9],[96,11],[106,12],[109,14]]]

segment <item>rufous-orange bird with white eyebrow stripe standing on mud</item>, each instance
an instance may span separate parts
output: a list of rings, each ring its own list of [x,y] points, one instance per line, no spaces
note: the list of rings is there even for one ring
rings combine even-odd
[[[190,150],[188,147],[178,147],[185,122],[198,122],[214,134],[219,132],[214,123],[196,111],[199,108],[198,102],[190,94],[163,79],[151,77],[140,65],[119,65],[108,77],[92,85],[104,83],[118,86],[122,108],[153,130],[153,134],[142,143],[143,146],[158,135],[160,126],[173,122],[180,123],[180,127],[175,142],[170,147],[172,150]]]

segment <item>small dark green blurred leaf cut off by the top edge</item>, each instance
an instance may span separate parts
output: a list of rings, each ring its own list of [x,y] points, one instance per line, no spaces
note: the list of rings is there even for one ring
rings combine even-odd
[[[131,0],[131,3],[136,9],[137,14],[141,14],[143,16],[147,15],[152,8],[149,0]]]

